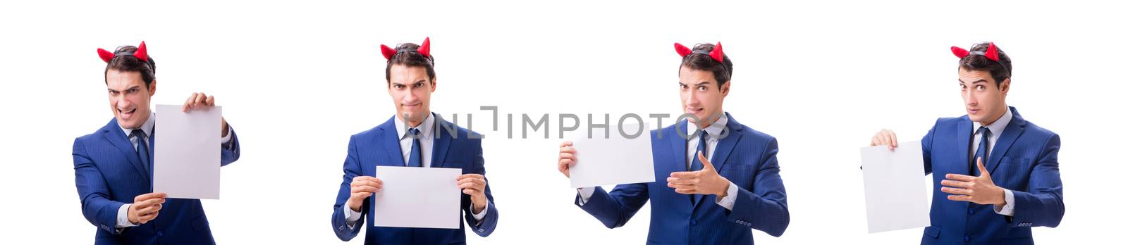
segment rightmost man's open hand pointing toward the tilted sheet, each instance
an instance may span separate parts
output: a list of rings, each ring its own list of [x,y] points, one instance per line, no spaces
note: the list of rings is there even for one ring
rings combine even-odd
[[[948,200],[1005,206],[1005,193],[990,180],[990,173],[984,167],[982,158],[976,158],[976,165],[979,166],[979,176],[949,173],[944,176],[948,180],[940,182],[944,185],[940,191],[950,193]]]

